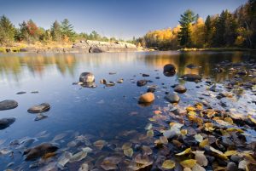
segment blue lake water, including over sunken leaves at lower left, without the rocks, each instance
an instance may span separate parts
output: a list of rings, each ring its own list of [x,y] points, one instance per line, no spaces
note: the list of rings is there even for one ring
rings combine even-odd
[[[153,117],[156,112],[166,112],[172,108],[164,96],[173,92],[171,86],[177,83],[187,88],[185,94],[178,94],[181,100],[175,105],[177,108],[185,108],[205,100],[212,108],[230,110],[242,116],[249,114],[255,119],[255,85],[250,88],[238,86],[229,90],[226,85],[236,73],[226,68],[224,71],[216,70],[219,67],[217,65],[221,66],[224,62],[246,64],[234,65],[241,68],[251,66],[249,69],[245,68],[250,70],[247,71],[249,73],[240,77],[241,82],[247,83],[253,79],[255,81],[255,61],[256,55],[252,52],[0,54],[0,101],[16,100],[19,103],[15,109],[0,111],[0,118],[16,118],[15,123],[0,130],[0,149],[6,151],[6,154],[3,151],[4,154],[0,153],[0,170],[55,170],[60,168],[56,162],[60,160],[63,151],[74,154],[86,146],[90,146],[92,152],[77,162],[68,162],[64,169],[78,170],[86,162],[90,168],[101,170],[102,160],[113,154],[121,155],[120,148],[127,142],[132,143],[134,155],[131,156],[134,157],[139,153],[137,146],[154,146],[155,137],[144,137],[148,131],[145,127],[150,123],[148,118]],[[166,77],[163,74],[166,64],[176,67],[174,76]],[[189,69],[186,67],[189,64],[198,67]],[[79,75],[84,71],[95,75],[96,88],[84,88],[77,84]],[[143,73],[149,77],[143,77]],[[184,74],[190,73],[201,75],[202,81],[195,83],[180,79]],[[100,83],[103,78],[112,82],[123,78],[124,82],[107,87]],[[150,82],[137,87],[137,80],[141,79]],[[138,97],[152,85],[157,86],[154,103],[147,106],[138,104]],[[216,85],[218,90],[209,91],[212,85]],[[231,91],[233,98],[217,99],[216,96],[222,91]],[[26,94],[17,94],[18,92]],[[43,114],[47,117],[35,121],[37,114],[28,113],[27,109],[44,102],[51,106]],[[164,128],[169,123],[162,124]],[[247,131],[250,134],[247,140],[255,140],[255,127],[251,126]],[[157,137],[158,134],[160,133],[155,133],[154,136]],[[18,140],[20,144],[12,144],[14,140]],[[29,145],[22,146],[22,140],[32,141]],[[95,149],[97,145],[93,143],[97,140],[104,140],[102,149]],[[42,142],[55,143],[60,149],[53,157],[25,162],[23,151]],[[157,154],[157,151],[153,153]],[[133,157],[122,157],[118,168],[113,168],[126,169]]]

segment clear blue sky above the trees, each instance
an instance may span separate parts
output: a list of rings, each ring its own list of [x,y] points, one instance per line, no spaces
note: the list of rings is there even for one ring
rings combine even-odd
[[[34,20],[46,29],[67,18],[75,31],[97,31],[107,37],[141,37],[147,31],[177,26],[180,14],[192,9],[202,18],[234,11],[247,0],[0,0],[0,15],[18,26]]]

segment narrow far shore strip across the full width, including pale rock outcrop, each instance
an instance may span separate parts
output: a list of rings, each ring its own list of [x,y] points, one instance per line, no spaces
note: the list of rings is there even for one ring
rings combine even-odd
[[[253,48],[180,48],[180,49],[154,49],[137,47],[125,42],[100,42],[80,41],[78,43],[54,43],[54,44],[24,44],[16,43],[13,46],[0,47],[0,53],[103,53],[103,52],[141,52],[141,51],[256,51]]]

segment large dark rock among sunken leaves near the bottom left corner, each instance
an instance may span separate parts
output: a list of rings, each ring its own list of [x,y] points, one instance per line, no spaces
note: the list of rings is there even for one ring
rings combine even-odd
[[[49,152],[55,152],[58,150],[56,145],[50,143],[43,143],[41,145],[34,146],[30,149],[24,151],[24,155],[26,155],[26,161],[35,160],[38,157],[43,157],[45,154]]]

